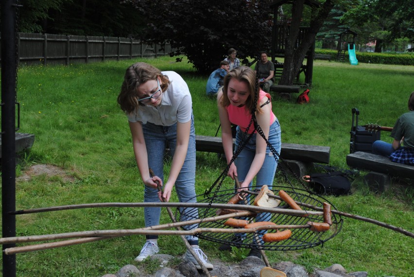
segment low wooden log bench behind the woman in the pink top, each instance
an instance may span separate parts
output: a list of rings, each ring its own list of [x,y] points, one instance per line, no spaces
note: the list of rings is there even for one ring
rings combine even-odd
[[[233,139],[233,148],[235,141]],[[196,135],[195,149],[203,152],[224,153],[221,137]],[[305,175],[308,168],[313,166],[313,163],[329,163],[330,147],[282,143],[280,157],[297,176],[301,177]],[[280,166],[284,170],[287,169],[283,163]]]

